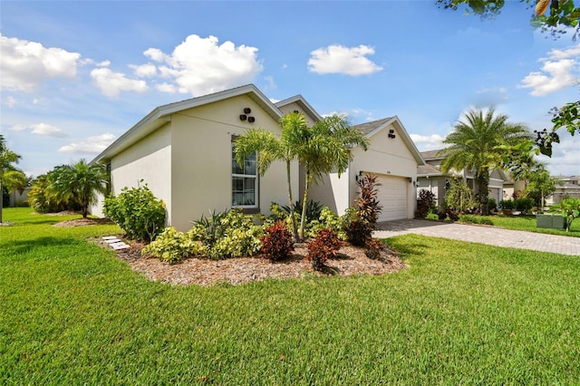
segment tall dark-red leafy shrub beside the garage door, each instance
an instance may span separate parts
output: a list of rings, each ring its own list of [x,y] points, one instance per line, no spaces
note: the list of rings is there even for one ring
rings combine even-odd
[[[347,213],[345,227],[347,240],[353,246],[364,246],[371,239],[372,231],[381,213],[382,207],[377,199],[377,176],[367,174],[356,183],[359,197],[354,203],[354,210]],[[350,218],[349,218],[350,217]]]

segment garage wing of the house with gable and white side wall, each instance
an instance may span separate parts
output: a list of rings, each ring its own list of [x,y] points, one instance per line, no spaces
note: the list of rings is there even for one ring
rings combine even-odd
[[[339,215],[357,198],[356,180],[365,173],[378,176],[378,199],[382,206],[379,221],[414,217],[417,207],[417,167],[423,165],[420,152],[398,117],[355,126],[371,141],[367,151],[353,149],[349,169],[339,178],[331,173],[314,185],[310,197],[321,201]]]

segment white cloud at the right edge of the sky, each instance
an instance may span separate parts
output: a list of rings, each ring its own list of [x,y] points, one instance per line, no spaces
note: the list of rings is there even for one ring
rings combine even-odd
[[[580,82],[578,70],[580,63],[580,44],[567,50],[552,50],[548,58],[541,58],[544,63],[539,72],[530,72],[519,87],[532,89],[533,96],[544,96],[557,92]]]

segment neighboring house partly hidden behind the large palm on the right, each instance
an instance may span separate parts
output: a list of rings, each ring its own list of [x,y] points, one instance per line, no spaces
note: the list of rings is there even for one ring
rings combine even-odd
[[[437,199],[437,205],[440,206],[443,204],[445,198],[446,186],[449,186],[447,183],[450,183],[454,177],[463,179],[469,188],[473,190],[473,193],[476,194],[478,184],[475,181],[475,173],[473,170],[451,170],[449,173],[443,173],[440,170],[440,166],[445,157],[440,155],[440,151],[441,150],[431,150],[420,153],[421,157],[425,160],[425,165],[417,168],[417,194],[419,195],[420,189],[430,190]],[[518,183],[514,183],[514,181],[512,181],[504,171],[492,170],[489,175],[488,197],[494,198],[496,203],[499,203],[502,199],[510,199],[514,187],[516,189],[518,187],[517,184]]]

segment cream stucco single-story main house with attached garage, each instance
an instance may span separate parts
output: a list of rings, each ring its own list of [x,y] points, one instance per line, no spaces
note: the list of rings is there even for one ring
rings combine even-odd
[[[137,187],[141,180],[147,183],[155,197],[165,202],[168,225],[182,231],[212,210],[238,207],[247,213],[267,215],[270,203],[285,205],[288,201],[285,164],[275,162],[264,177],[259,177],[255,157],[248,157],[243,168],[238,167],[232,145],[250,128],[279,135],[278,121],[292,111],[303,113],[309,125],[321,119],[302,96],[272,102],[253,84],[170,103],[151,111],[92,163],[108,165],[111,192],[115,195],[122,188]],[[365,132],[372,140],[371,149],[353,149],[354,160],[348,172],[340,181],[331,174],[327,180],[332,183],[326,188],[322,184],[313,188],[310,198],[342,214],[356,196],[355,176],[378,172],[386,182],[381,188],[383,198],[393,196],[386,193],[389,189],[401,189],[394,196],[405,198],[392,204],[401,212],[392,218],[412,217],[416,205],[411,199],[415,197],[412,181],[416,179],[417,165],[422,164],[419,152],[396,117]],[[298,199],[304,187],[297,162],[291,170],[292,188]],[[391,206],[386,202],[382,205]],[[102,216],[102,199],[91,212]]]

